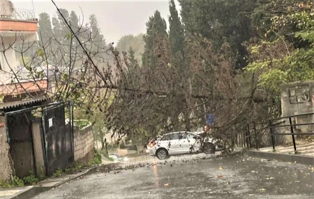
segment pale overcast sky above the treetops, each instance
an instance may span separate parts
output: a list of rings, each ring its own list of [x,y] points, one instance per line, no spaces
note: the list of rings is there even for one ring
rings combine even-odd
[[[15,8],[33,9],[32,0],[11,1]],[[33,3],[37,17],[42,12],[48,13],[50,17],[56,14],[56,9],[50,0],[33,0]],[[160,11],[168,24],[168,0],[55,0],[55,3],[59,8],[65,8],[69,12],[75,11],[77,15],[81,15],[81,8],[84,22],[87,22],[88,16],[94,13],[107,42],[116,43],[125,34],[145,33],[145,23],[155,10]],[[178,2],[176,4],[178,7]]]

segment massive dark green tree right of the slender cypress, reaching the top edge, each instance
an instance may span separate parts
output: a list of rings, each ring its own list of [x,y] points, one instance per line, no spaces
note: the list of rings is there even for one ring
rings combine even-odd
[[[230,43],[236,67],[246,65],[243,57],[246,49],[241,45],[252,37],[251,13],[259,4],[257,0],[179,0],[182,22],[187,32],[201,34],[219,50],[225,42]]]

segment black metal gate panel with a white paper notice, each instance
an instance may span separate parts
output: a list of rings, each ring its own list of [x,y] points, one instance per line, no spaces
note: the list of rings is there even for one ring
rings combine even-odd
[[[73,165],[73,109],[70,103],[42,109],[42,133],[47,175]]]

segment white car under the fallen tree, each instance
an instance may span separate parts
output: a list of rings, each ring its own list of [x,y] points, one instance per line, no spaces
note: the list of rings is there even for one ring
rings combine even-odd
[[[204,152],[213,154],[216,146],[212,139],[203,139],[191,132],[173,132],[158,137],[149,145],[149,154],[158,159],[167,159],[170,155]]]

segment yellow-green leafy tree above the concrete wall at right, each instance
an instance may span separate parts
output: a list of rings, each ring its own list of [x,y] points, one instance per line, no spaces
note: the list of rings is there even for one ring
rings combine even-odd
[[[264,39],[248,46],[246,69],[257,72],[259,86],[277,96],[284,83],[314,79],[313,9],[311,1],[277,1],[253,15],[256,25],[263,25]],[[260,10],[265,14],[259,15]]]

